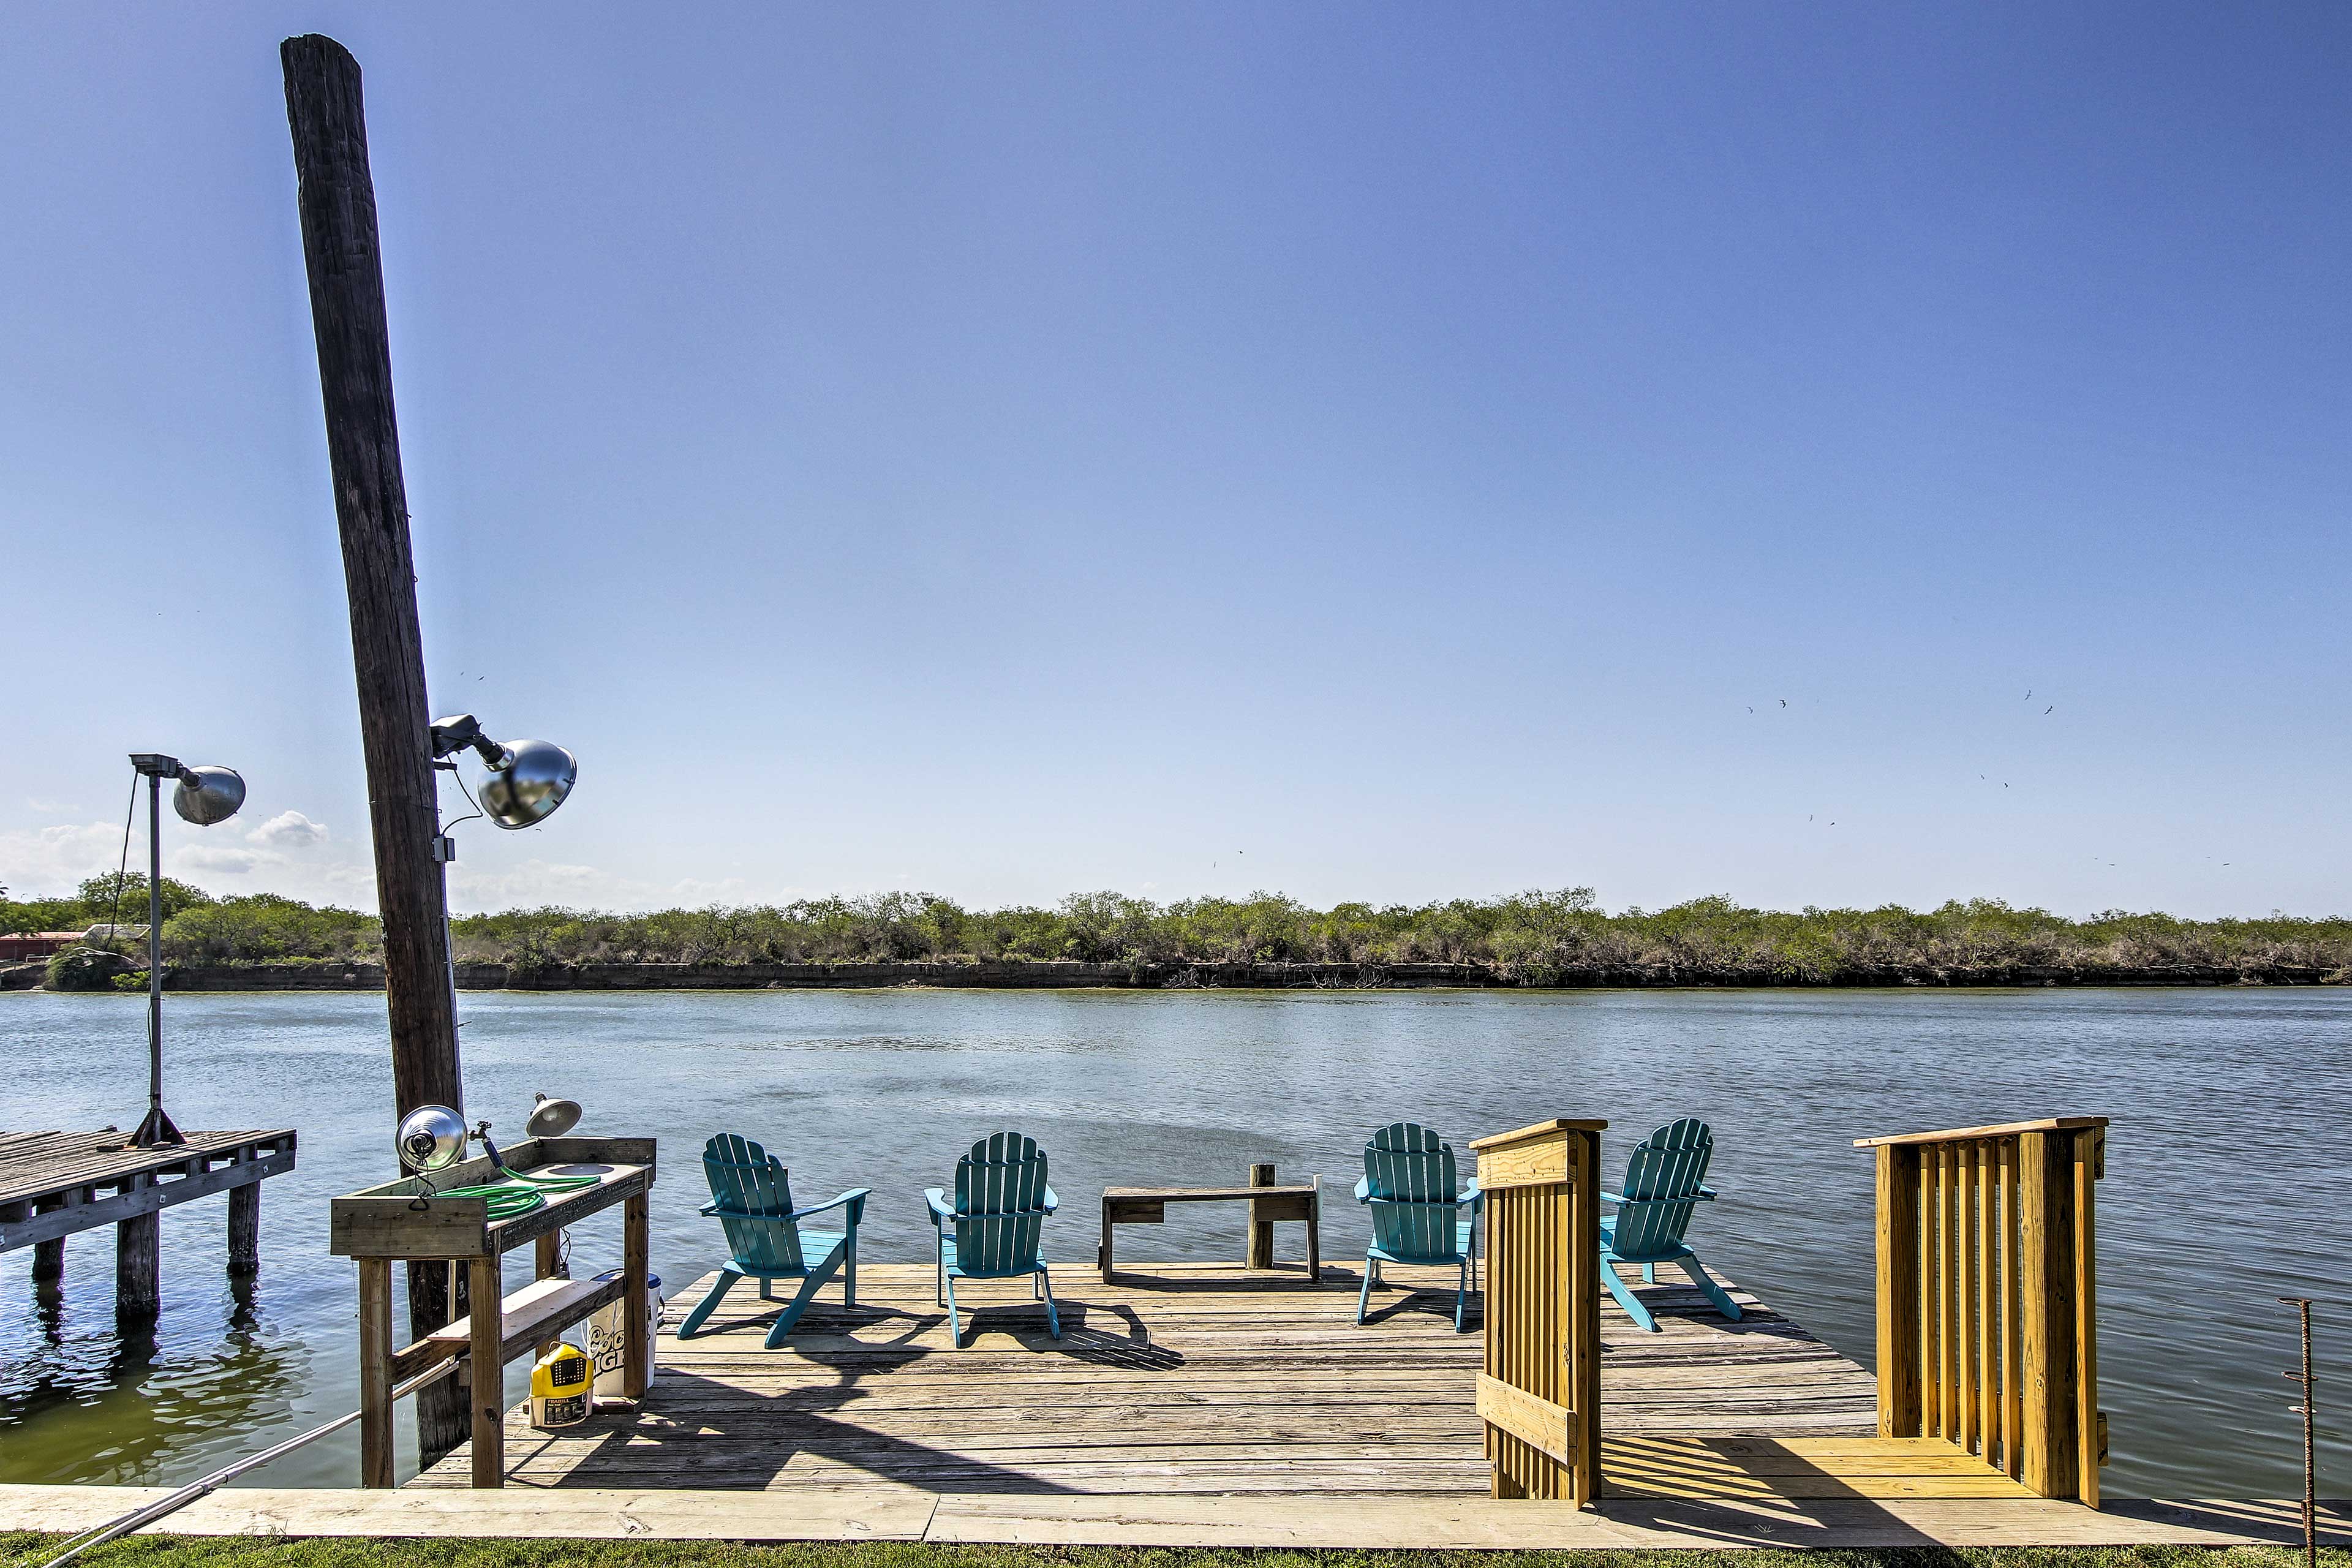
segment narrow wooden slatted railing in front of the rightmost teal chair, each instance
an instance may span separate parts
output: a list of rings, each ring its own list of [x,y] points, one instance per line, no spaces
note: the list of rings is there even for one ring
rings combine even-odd
[[[1496,1497],[1585,1507],[1599,1483],[1599,1157],[1606,1121],[1479,1138],[1486,1371],[1477,1410]]]

